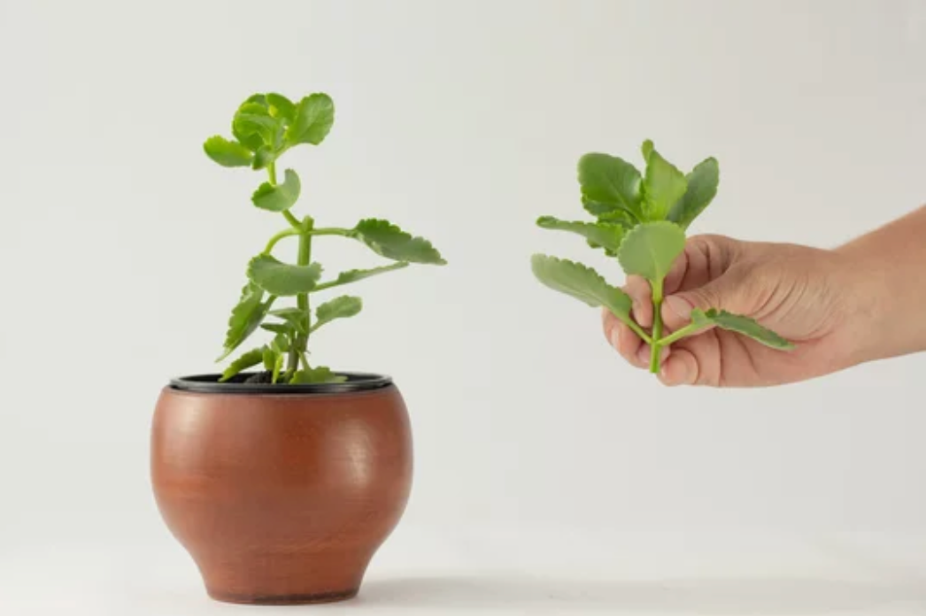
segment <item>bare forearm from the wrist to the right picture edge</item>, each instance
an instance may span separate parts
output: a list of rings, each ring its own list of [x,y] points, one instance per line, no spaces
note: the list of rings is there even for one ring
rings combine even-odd
[[[860,361],[926,350],[926,207],[839,247],[855,285]],[[865,296],[867,295],[867,296]]]

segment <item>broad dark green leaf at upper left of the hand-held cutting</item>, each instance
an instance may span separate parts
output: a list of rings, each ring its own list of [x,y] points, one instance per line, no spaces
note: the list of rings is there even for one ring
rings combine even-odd
[[[599,206],[622,209],[636,220],[643,218],[642,182],[640,171],[618,157],[593,152],[579,159],[582,196]]]

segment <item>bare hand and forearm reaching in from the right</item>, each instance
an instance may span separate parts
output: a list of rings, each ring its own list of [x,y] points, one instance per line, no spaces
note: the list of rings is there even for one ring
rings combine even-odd
[[[782,352],[736,333],[709,329],[664,349],[667,385],[760,387],[795,383],[874,359],[926,350],[926,207],[832,250],[690,238],[665,282],[667,332],[692,308],[724,308],[756,319],[795,343]],[[628,278],[634,319],[653,324],[649,283]],[[633,366],[649,347],[612,314],[607,340]]]

